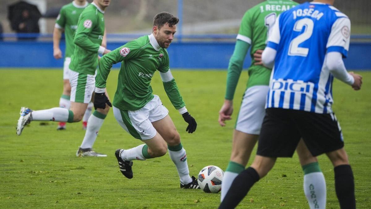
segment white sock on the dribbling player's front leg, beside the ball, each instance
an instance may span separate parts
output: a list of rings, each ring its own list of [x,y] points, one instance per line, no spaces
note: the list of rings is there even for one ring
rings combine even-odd
[[[187,164],[187,154],[185,149],[182,148],[179,151],[171,151],[169,149],[169,155],[175,167],[177,167],[180,182],[183,184],[188,184],[192,182],[192,178],[189,176],[188,164]]]

